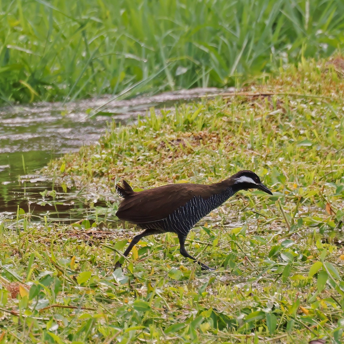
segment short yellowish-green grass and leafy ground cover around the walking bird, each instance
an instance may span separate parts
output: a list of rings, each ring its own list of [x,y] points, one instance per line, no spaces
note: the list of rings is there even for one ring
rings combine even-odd
[[[191,231],[187,249],[215,273],[181,257],[172,234],[141,240],[122,273],[114,249],[132,225],[0,222],[0,343],[342,343],[340,62],[303,60],[227,99],[152,109],[53,162],[46,173],[90,191],[251,169],[274,194],[239,192]]]

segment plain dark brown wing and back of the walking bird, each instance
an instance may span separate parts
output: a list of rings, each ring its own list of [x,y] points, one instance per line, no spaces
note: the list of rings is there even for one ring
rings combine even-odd
[[[211,189],[210,185],[171,184],[134,192],[121,201],[116,216],[137,224],[159,221],[195,196],[208,198]]]

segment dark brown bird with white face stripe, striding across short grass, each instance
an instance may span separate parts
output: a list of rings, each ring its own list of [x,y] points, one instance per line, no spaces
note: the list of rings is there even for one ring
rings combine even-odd
[[[144,236],[172,232],[178,235],[180,254],[193,259],[201,265],[202,270],[212,269],[185,249],[186,236],[191,228],[239,190],[259,189],[272,195],[257,174],[247,170],[210,185],[170,184],[135,192],[125,180],[122,183],[123,186],[116,185],[117,193],[124,198],[116,216],[144,229],[131,240],[123,255],[128,256],[132,247]],[[116,268],[120,266],[117,262]]]

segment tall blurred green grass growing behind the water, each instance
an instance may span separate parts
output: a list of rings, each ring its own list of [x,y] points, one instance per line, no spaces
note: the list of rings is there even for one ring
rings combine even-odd
[[[343,29],[341,0],[2,1],[0,102],[240,87]]]

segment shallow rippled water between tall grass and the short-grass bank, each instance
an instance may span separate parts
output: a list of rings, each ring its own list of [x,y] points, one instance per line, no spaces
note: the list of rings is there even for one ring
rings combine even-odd
[[[0,108],[0,219],[14,217],[18,207],[32,219],[48,215],[51,221],[76,222],[93,216],[76,189],[65,193],[38,171],[51,159],[96,142],[107,122],[128,123],[155,108],[174,107],[186,101],[214,97],[221,89],[192,89],[116,100],[111,96],[74,103],[37,103]],[[98,112],[98,115],[92,116]],[[111,114],[111,116],[109,116]],[[43,197],[57,192],[55,200]],[[105,206],[105,203],[97,203]]]

